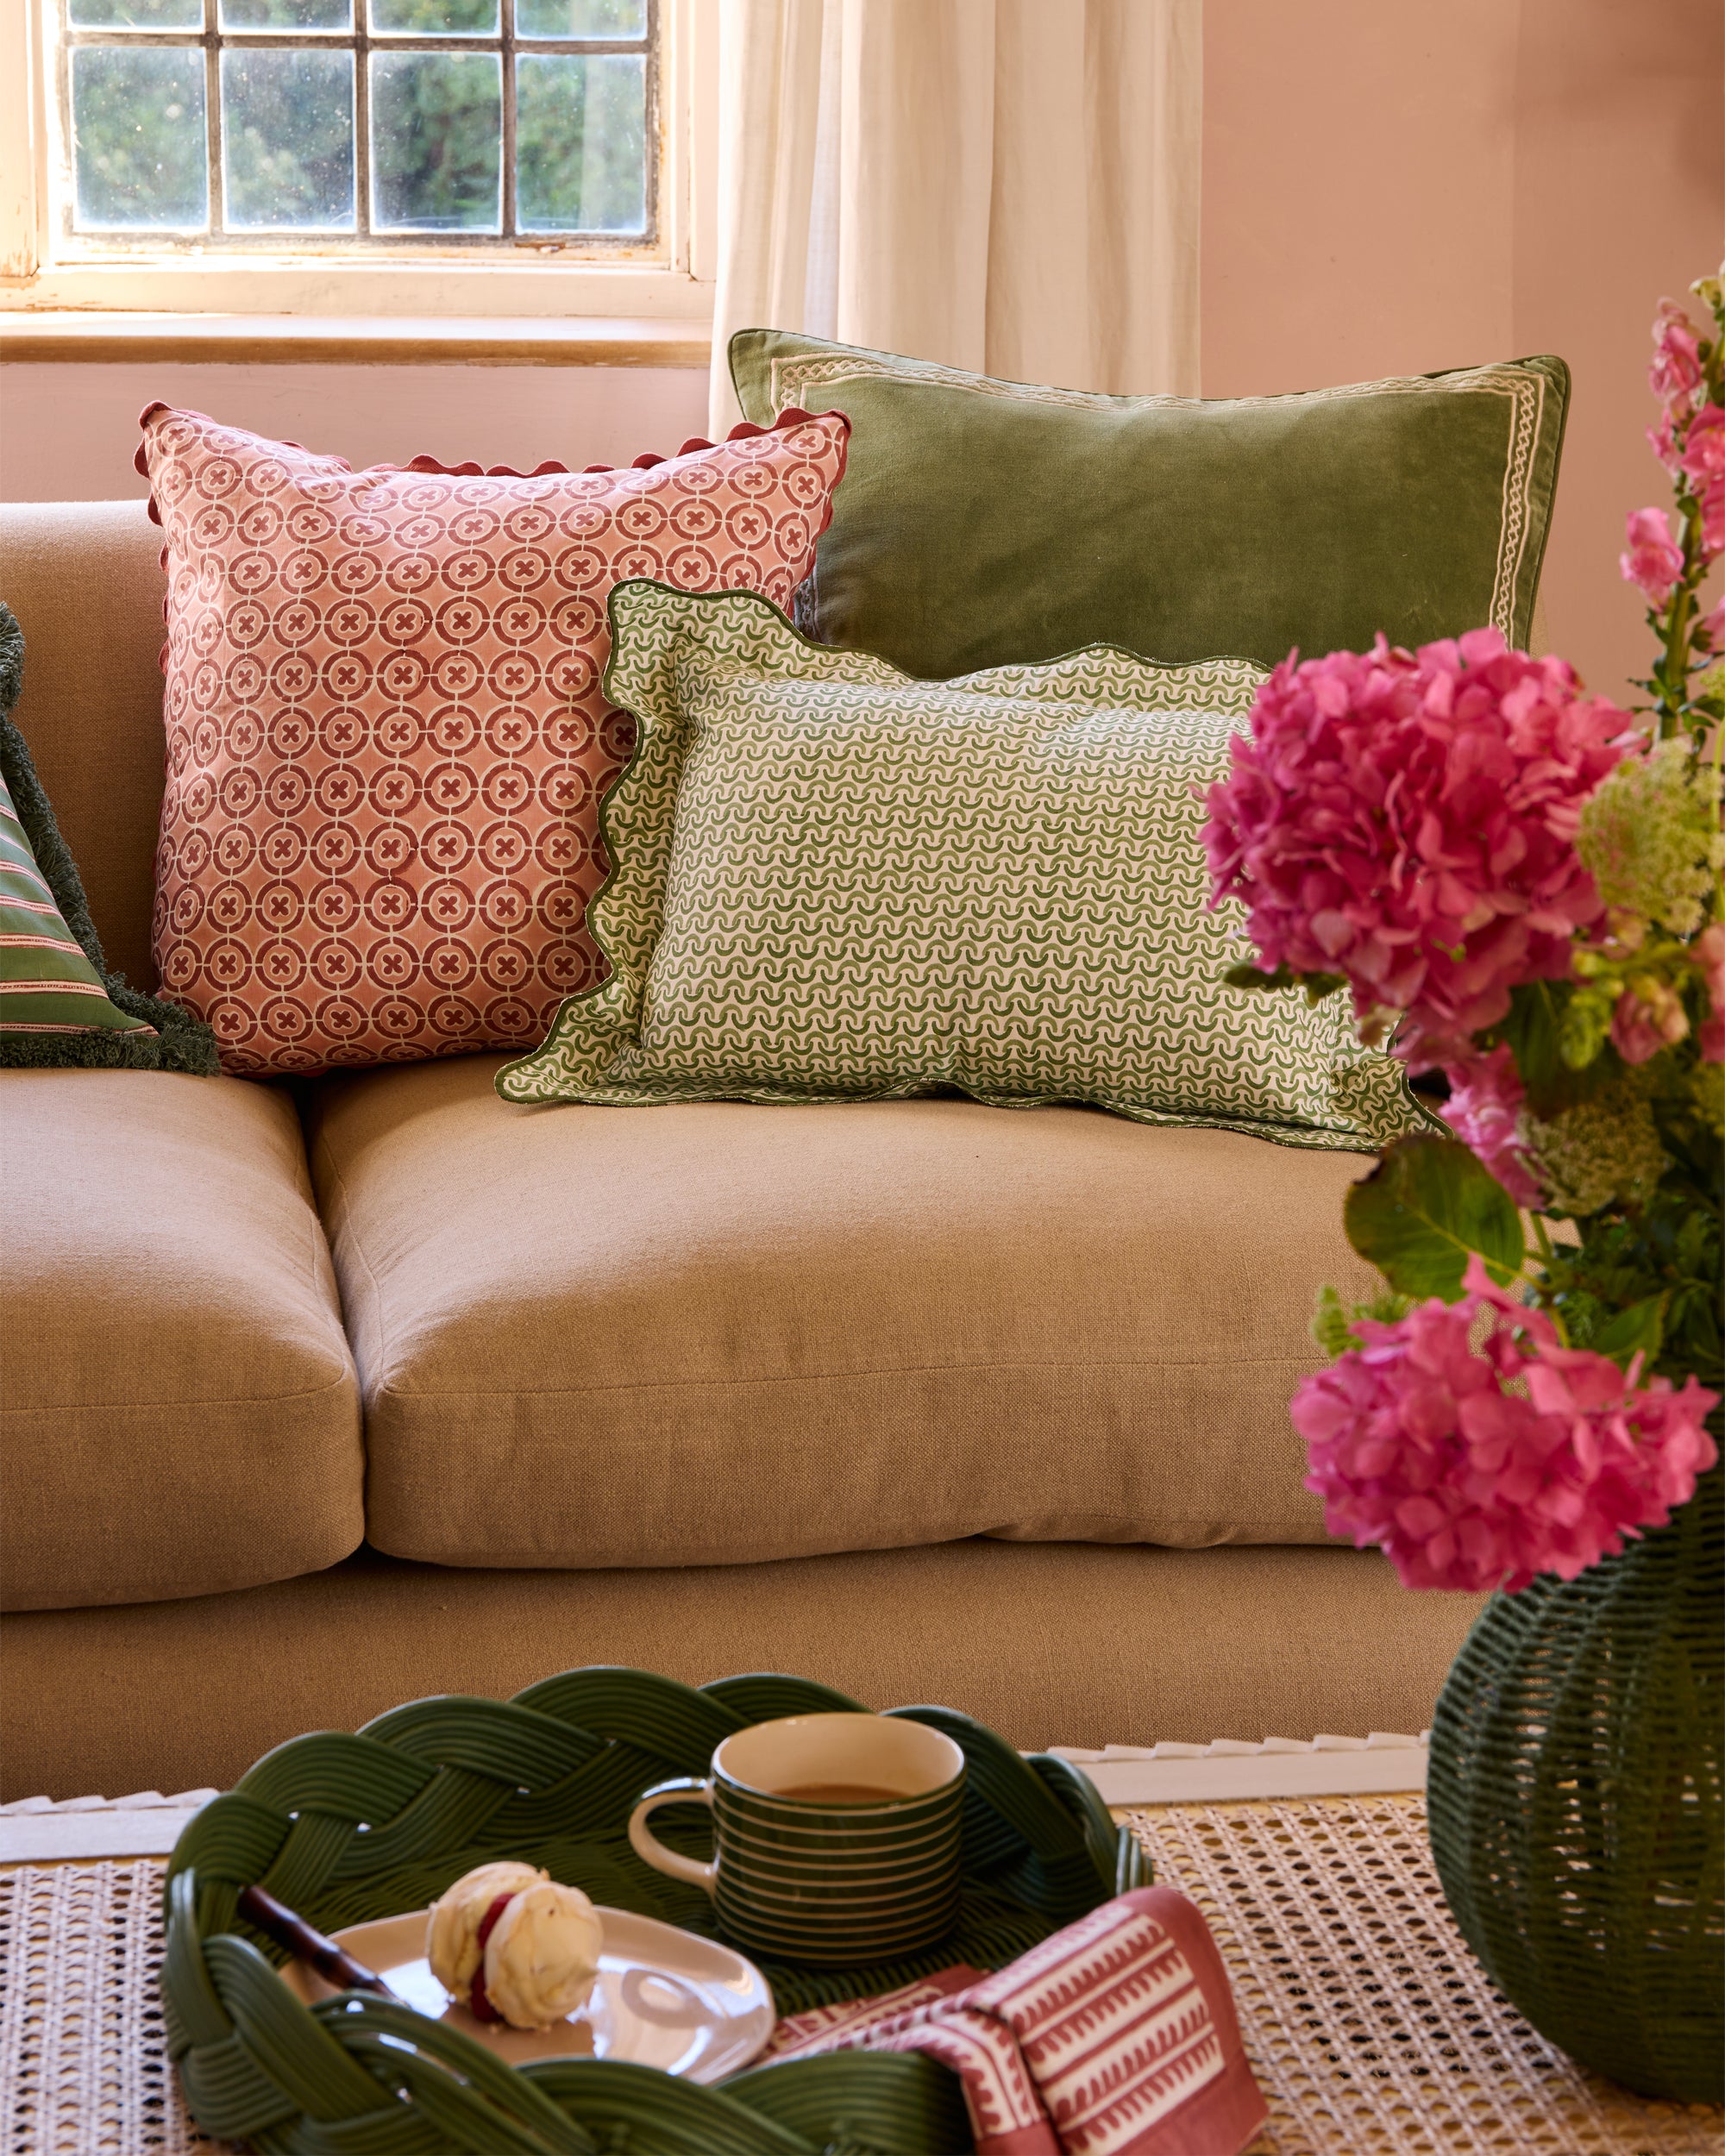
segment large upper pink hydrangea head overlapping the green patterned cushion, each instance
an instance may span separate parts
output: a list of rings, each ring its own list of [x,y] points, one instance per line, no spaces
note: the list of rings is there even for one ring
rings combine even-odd
[[[1406,1061],[1462,1059],[1598,918],[1576,819],[1628,737],[1563,660],[1496,630],[1289,655],[1208,796],[1210,903],[1246,903],[1266,972],[1341,975],[1361,1018],[1406,1013]]]

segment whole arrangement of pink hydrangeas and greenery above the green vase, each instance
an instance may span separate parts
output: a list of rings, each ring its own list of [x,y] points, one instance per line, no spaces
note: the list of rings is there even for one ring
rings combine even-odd
[[[1350,994],[1440,1097],[1348,1194],[1384,1294],[1324,1291],[1292,1404],[1330,1531],[1408,1587],[1574,1578],[1716,1457],[1725,291],[1693,291],[1710,326],[1667,300],[1650,373],[1675,515],[1622,556],[1650,703],[1496,630],[1294,653],[1208,796],[1212,906],[1257,951],[1229,981]]]

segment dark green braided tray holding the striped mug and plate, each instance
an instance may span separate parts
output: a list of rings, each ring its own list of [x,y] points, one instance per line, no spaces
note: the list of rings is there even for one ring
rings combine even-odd
[[[640,1863],[634,1800],[703,1774],[733,1729],[865,1712],[802,1677],[694,1690],[640,1669],[571,1669],[513,1699],[416,1699],[356,1736],[267,1753],[185,1828],[168,1867],[162,1999],[198,2126],[295,2156],[944,2156],[972,2147],[957,2078],[921,2055],[834,2053],[696,2087],[593,2059],[505,2065],[459,2029],[364,1992],[302,2005],[282,1951],[237,1917],[259,1884],[323,1932],[423,1908],[472,1865],[518,1856],[595,1902],[716,1936],[694,1887]],[[1063,1759],[1020,1757],[949,1708],[897,1708],[968,1761],[953,1934],[867,1971],[761,1962],[781,2014],[998,1968],[1113,1893],[1147,1882],[1138,1843]],[[701,1807],[660,1813],[707,1854]]]

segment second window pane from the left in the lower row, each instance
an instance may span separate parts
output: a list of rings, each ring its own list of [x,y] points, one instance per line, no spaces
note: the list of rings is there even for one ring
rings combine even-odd
[[[351,233],[351,52],[222,54],[222,190],[231,231]]]

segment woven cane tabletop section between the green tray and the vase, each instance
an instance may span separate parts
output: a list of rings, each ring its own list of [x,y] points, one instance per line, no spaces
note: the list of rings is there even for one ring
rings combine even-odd
[[[1468,1951],[1417,1796],[1126,1813],[1210,1921],[1270,2122],[1248,2156],[1719,2156],[1531,2029]]]

